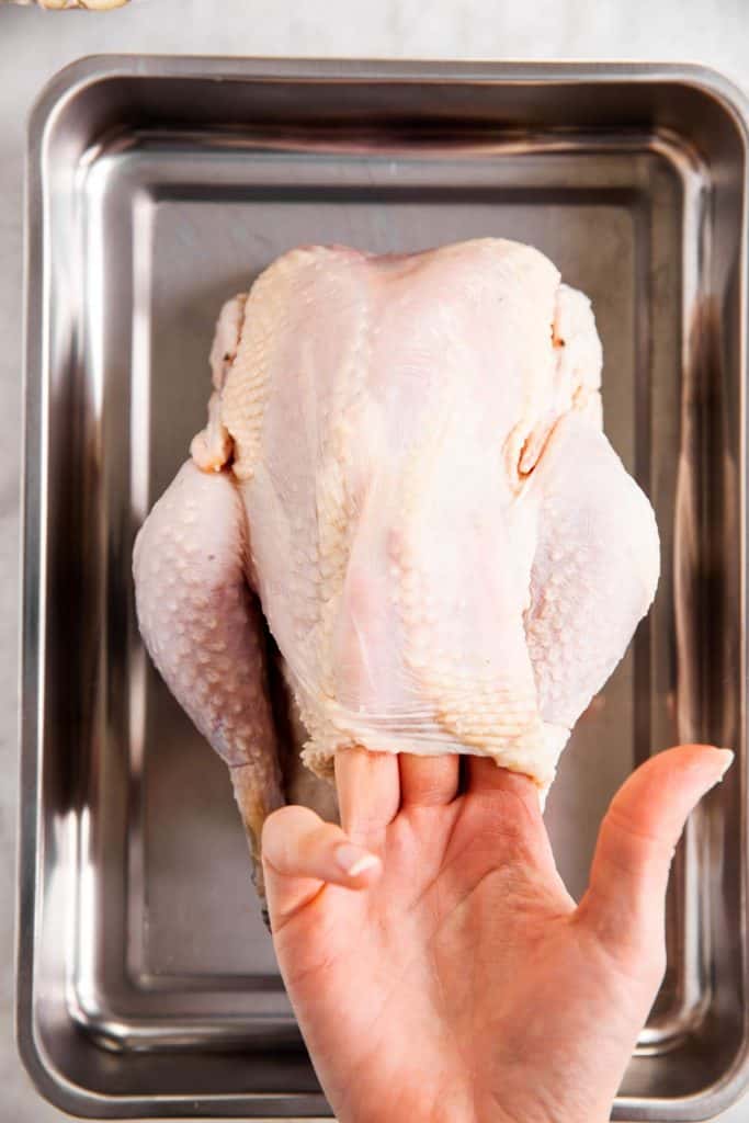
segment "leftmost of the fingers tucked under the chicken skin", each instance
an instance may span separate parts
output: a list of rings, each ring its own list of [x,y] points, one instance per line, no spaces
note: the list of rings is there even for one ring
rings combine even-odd
[[[336,786],[344,830],[367,836],[387,827],[398,814],[401,787],[394,752],[339,749]]]

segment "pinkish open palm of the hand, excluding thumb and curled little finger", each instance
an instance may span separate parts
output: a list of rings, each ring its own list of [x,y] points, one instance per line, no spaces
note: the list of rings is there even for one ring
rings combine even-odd
[[[488,783],[380,823],[371,794],[344,793],[348,837],[382,876],[365,893],[302,884],[274,917],[345,1121],[602,1120],[652,1001],[663,939],[646,924],[609,947],[615,910],[590,923],[587,903],[576,909],[531,784],[479,768]]]

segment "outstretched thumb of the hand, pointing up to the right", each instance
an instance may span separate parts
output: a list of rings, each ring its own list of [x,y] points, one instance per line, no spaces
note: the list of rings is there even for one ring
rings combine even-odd
[[[616,792],[595,848],[578,917],[612,950],[663,940],[668,871],[687,815],[733,754],[681,745],[641,765]],[[656,926],[654,926],[656,925]]]

